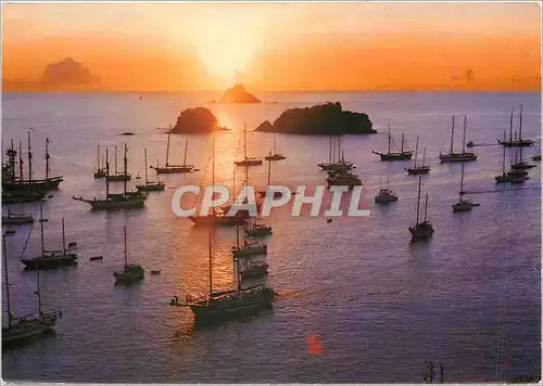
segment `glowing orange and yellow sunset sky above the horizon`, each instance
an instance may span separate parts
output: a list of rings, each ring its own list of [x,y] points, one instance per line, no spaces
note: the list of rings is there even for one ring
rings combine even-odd
[[[10,3],[2,26],[8,89],[65,57],[108,90],[541,87],[533,2]]]

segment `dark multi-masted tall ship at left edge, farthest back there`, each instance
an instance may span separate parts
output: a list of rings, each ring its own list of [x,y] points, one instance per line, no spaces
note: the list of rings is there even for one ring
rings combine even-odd
[[[30,129],[31,130],[31,129]],[[2,176],[2,190],[3,191],[48,191],[59,189],[59,184],[63,181],[62,176],[49,177],[49,139],[46,137],[46,178],[45,179],[34,179],[33,170],[33,152],[30,143],[30,130],[28,130],[28,179],[25,180],[23,176],[22,159],[20,155],[20,176],[15,176],[15,156],[17,152],[12,146],[8,150],[8,159],[10,165],[10,173],[5,177]],[[21,147],[20,147],[21,152]]]

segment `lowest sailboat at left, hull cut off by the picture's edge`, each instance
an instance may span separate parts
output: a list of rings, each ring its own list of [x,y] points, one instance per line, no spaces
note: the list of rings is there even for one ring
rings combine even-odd
[[[14,233],[14,232],[13,232]],[[54,333],[56,325],[56,312],[43,312],[41,309],[41,288],[39,281],[39,270],[36,272],[38,295],[38,316],[25,316],[14,318],[11,313],[10,281],[8,278],[8,252],[5,247],[7,233],[2,234],[3,247],[3,271],[5,286],[5,306],[8,311],[8,325],[2,326],[2,347],[10,348],[16,344],[29,342],[38,336]]]

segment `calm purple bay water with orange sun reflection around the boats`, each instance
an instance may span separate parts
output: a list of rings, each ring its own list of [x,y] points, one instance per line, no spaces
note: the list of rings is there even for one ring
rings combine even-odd
[[[540,171],[530,172],[525,190],[475,194],[471,213],[454,214],[460,165],[440,165],[449,142],[451,116],[468,116],[467,140],[493,143],[508,128],[513,106],[525,105],[526,138],[540,138],[538,93],[276,93],[260,95],[276,104],[209,105],[219,124],[235,130],[275,119],[288,107],[341,101],[344,108],[369,114],[375,136],[344,137],[345,157],[356,163],[372,213],[369,218],[290,218],[273,213],[267,240],[268,282],[282,296],[274,310],[249,321],[192,331],[190,310],[171,308],[177,294],[206,291],[207,233],[176,218],[169,200],[176,186],[200,183],[217,140],[218,182],[231,185],[232,162],[242,155],[239,131],[213,136],[175,136],[171,162],[188,162],[202,171],[165,178],[167,189],[151,193],[142,210],[90,213],[73,195],[92,197],[104,184],[92,178],[96,144],[129,147],[129,170],[143,173],[149,162],[164,160],[166,137],[156,127],[175,121],[179,110],[217,99],[211,94],[25,94],[3,95],[2,146],[26,141],[33,127],[35,167],[43,170],[42,143],[51,139],[53,173],[64,176],[59,192],[43,206],[46,248],[79,244],[77,268],[41,274],[47,310],[60,308],[58,335],[2,356],[3,377],[43,382],[421,382],[426,360],[441,362],[449,382],[496,379],[541,370]],[[371,150],[384,150],[388,123],[411,144],[420,136],[431,175],[429,216],[435,233],[427,244],[409,245],[415,221],[417,179],[409,163],[381,163]],[[459,120],[458,120],[459,123]],[[119,132],[134,131],[134,137]],[[273,134],[249,133],[249,153],[264,156]],[[457,146],[462,142],[458,130]],[[321,184],[317,163],[328,158],[328,138],[277,136],[288,159],[274,163],[278,184]],[[399,140],[397,140],[399,142]],[[496,189],[502,147],[475,147],[466,164],[470,191]],[[526,151],[528,156],[534,149]],[[119,168],[122,155],[119,152]],[[206,176],[209,181],[210,176]],[[400,194],[389,207],[375,207],[381,178]],[[239,182],[239,177],[237,178]],[[266,183],[266,167],[251,168],[250,181]],[[383,179],[384,181],[384,179]],[[132,180],[134,184],[137,180]],[[117,185],[121,191],[122,184]],[[38,206],[25,210],[37,213]],[[148,271],[131,288],[115,287],[112,271],[123,263],[123,227],[128,229],[129,259]],[[18,259],[29,227],[8,239],[9,272],[15,314],[36,310],[35,273]],[[229,248],[232,229],[214,234],[217,288],[232,285]],[[36,226],[25,255],[40,248]],[[88,257],[104,255],[103,261]],[[320,349],[308,339],[320,337]],[[498,356],[504,352],[505,360]],[[502,366],[501,363],[505,364]]]

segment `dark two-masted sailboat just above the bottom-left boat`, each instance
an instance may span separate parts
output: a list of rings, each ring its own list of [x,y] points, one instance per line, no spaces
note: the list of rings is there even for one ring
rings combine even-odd
[[[66,249],[64,219],[62,219],[62,249],[46,250],[43,240],[43,207],[39,206],[39,224],[41,239],[41,254],[28,259],[21,259],[27,270],[55,269],[59,267],[67,267],[77,265],[77,254]]]

